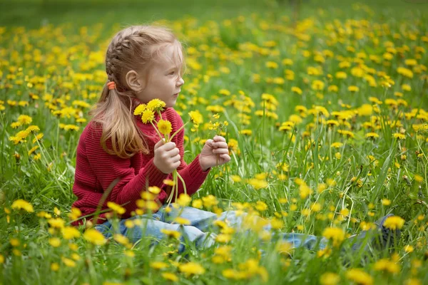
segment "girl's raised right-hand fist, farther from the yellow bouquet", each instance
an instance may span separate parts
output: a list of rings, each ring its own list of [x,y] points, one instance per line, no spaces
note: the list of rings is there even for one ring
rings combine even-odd
[[[228,143],[220,135],[216,135],[213,140],[207,140],[199,155],[200,167],[203,171],[218,165],[224,165],[230,161]]]

